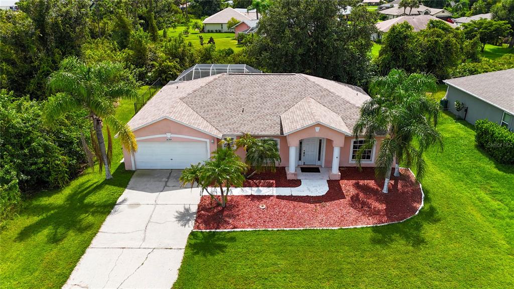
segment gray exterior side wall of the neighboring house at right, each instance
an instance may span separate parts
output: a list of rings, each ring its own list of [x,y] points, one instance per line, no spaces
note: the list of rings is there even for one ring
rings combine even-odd
[[[489,121],[501,124],[504,113],[503,110],[479,98],[469,95],[458,88],[448,86],[445,98],[448,100],[449,111],[455,115],[460,115],[462,118],[464,118],[465,112],[462,110],[459,114],[455,111],[455,101],[458,100],[463,102],[464,106],[468,107],[466,121],[471,124],[475,124],[475,121],[484,118],[487,118]],[[512,123],[509,125],[509,129],[514,129],[514,125]]]

